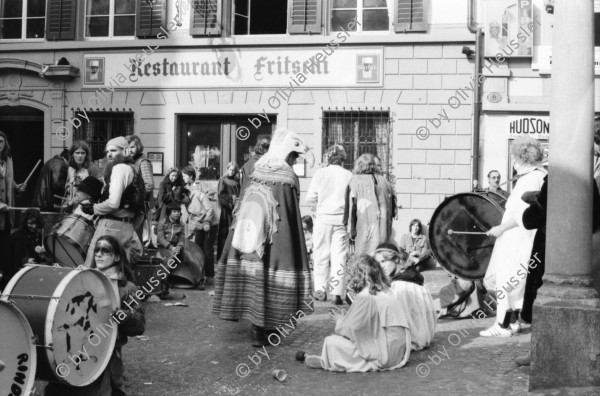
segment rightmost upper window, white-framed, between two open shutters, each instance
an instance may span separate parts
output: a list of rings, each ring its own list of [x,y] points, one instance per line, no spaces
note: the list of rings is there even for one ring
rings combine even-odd
[[[352,30],[389,31],[390,12],[388,2],[391,0],[332,0],[331,31],[346,29],[352,21],[358,22]]]

